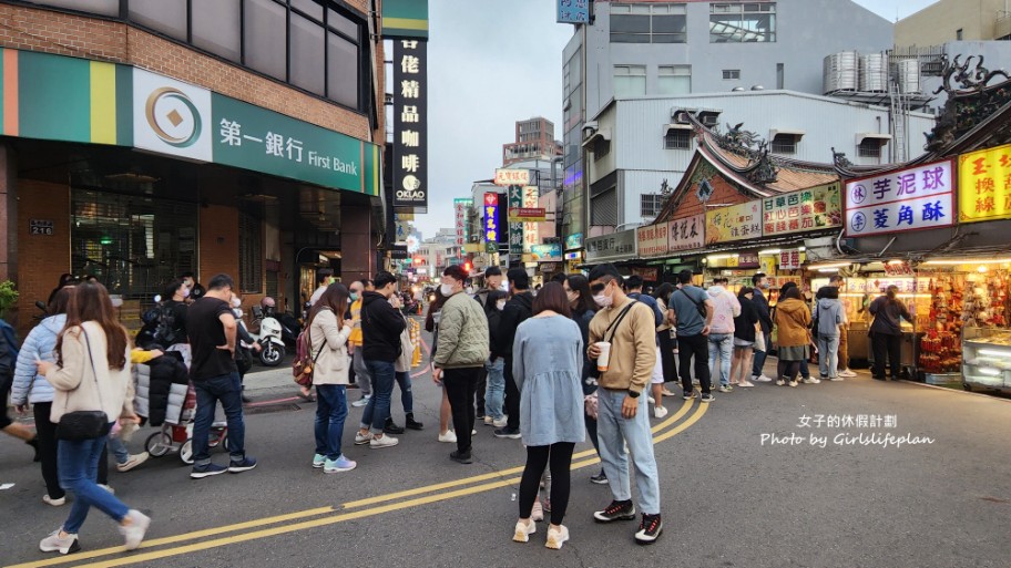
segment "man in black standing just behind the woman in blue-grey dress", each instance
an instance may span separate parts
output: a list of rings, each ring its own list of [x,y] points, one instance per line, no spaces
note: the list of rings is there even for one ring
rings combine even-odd
[[[520,438],[520,389],[512,376],[512,342],[520,323],[533,314],[533,295],[530,293],[530,277],[522,268],[511,268],[506,272],[512,297],[502,310],[499,323],[499,347],[496,353],[506,361],[506,427],[494,431],[496,437]]]

